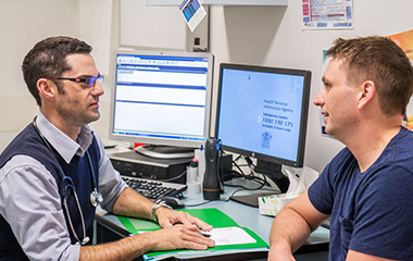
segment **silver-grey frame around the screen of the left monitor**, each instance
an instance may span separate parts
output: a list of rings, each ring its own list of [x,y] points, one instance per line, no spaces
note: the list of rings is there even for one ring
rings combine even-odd
[[[209,59],[208,77],[206,77],[206,104],[205,104],[205,121],[204,121],[204,140],[190,139],[171,139],[159,137],[143,136],[126,136],[114,134],[114,114],[115,114],[115,97],[116,97],[116,78],[117,78],[117,55],[159,55],[159,57],[187,57],[187,58],[206,58]],[[114,50],[112,61],[112,91],[111,91],[111,111],[110,111],[110,129],[109,138],[120,141],[138,142],[146,145],[161,145],[172,147],[188,147],[200,148],[211,132],[211,109],[212,109],[212,84],[213,84],[214,55],[209,52],[178,52],[178,51],[148,51],[148,50]],[[143,112],[138,112],[143,113]],[[189,122],[188,122],[189,123]]]

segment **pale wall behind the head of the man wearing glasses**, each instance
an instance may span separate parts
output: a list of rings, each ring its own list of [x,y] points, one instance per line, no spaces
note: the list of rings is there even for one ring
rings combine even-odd
[[[92,11],[90,11],[92,10]],[[113,9],[116,13],[116,5]],[[0,2],[0,152],[38,112],[23,80],[21,64],[39,40],[58,35],[86,40],[102,74],[108,75],[112,24],[112,0],[13,0]],[[118,18],[118,16],[116,16]],[[114,23],[117,25],[118,23]],[[114,36],[117,27],[115,27]],[[113,40],[117,45],[116,40]],[[105,80],[103,88],[109,88]],[[101,102],[109,114],[110,96]],[[108,117],[92,124],[108,136]]]

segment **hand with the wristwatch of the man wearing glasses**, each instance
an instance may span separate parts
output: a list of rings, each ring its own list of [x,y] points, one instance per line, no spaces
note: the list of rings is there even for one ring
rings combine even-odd
[[[195,225],[202,231],[211,231],[212,225],[206,224],[193,215],[183,211],[175,211],[167,208],[159,208],[155,212],[158,222],[162,227],[171,227],[176,224],[184,224],[187,226]],[[199,229],[198,229],[199,231]]]

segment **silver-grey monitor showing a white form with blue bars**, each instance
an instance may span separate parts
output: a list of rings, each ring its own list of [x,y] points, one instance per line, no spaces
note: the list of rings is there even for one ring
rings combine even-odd
[[[214,57],[116,50],[113,63],[110,138],[150,145],[139,151],[154,158],[192,157],[210,135]]]

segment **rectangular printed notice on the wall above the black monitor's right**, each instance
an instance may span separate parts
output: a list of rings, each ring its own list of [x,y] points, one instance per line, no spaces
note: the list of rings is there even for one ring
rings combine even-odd
[[[352,0],[302,0],[302,29],[352,28]]]

